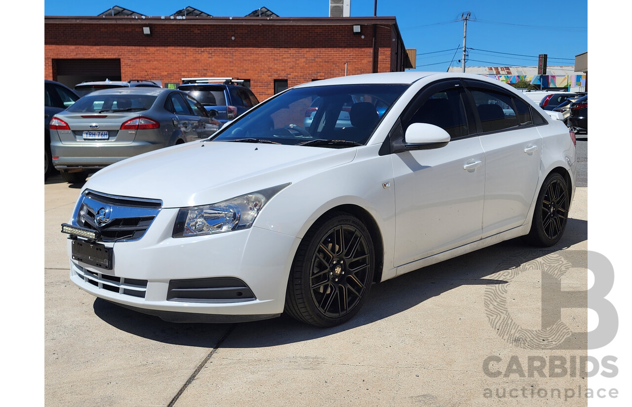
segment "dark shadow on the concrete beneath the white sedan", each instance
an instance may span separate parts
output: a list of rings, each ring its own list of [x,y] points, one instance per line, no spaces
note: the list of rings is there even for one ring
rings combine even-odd
[[[547,256],[588,239],[588,222],[569,219],[564,238],[554,247],[535,249],[520,239],[508,240],[470,254],[418,269],[372,287],[367,302],[351,321],[332,328],[316,328],[287,316],[234,324],[231,340],[222,346],[265,347],[320,338],[370,324],[415,307],[463,285],[502,284],[485,278],[513,266]],[[515,264],[514,264],[515,263]],[[502,264],[502,266],[500,266]],[[185,346],[209,347],[209,336],[225,333],[233,324],[178,324],[162,321],[97,298],[94,312],[112,326],[143,338]]]

